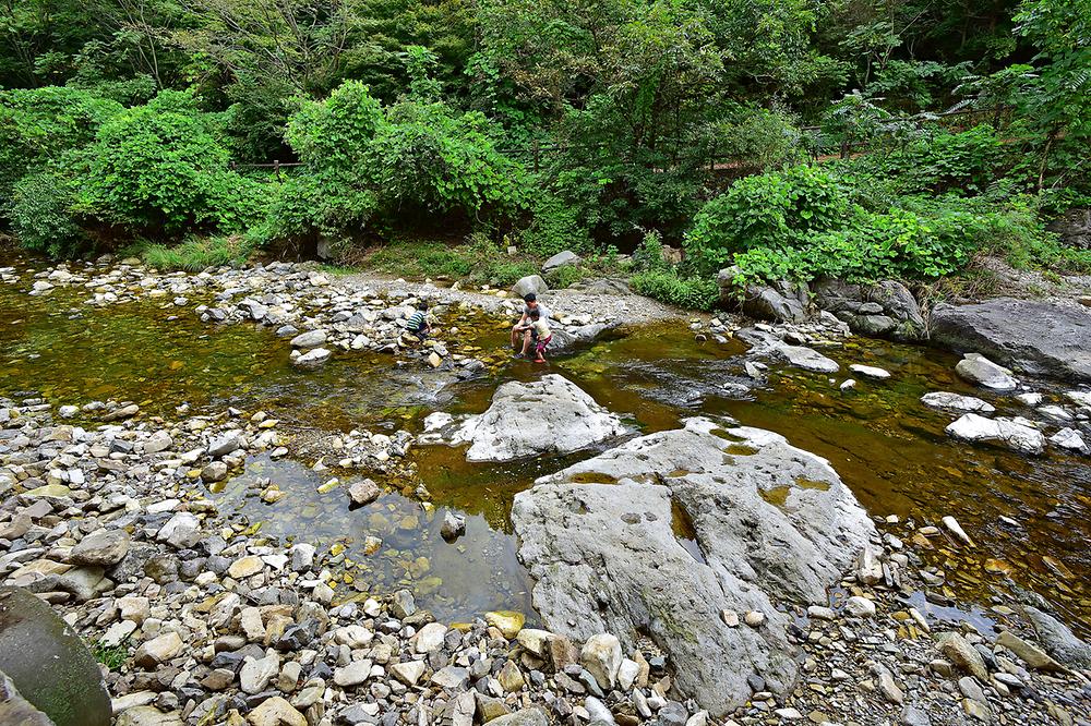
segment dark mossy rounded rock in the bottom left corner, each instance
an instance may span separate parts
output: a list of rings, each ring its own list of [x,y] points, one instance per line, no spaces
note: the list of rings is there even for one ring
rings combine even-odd
[[[0,588],[0,670],[57,726],[110,724],[110,697],[91,651],[22,588]]]

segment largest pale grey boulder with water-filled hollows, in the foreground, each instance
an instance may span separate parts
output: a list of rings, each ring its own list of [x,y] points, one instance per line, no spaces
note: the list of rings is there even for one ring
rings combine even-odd
[[[826,602],[874,533],[825,459],[708,419],[539,480],[516,496],[512,520],[550,630],[615,633],[626,650],[651,638],[680,693],[717,715],[751,698],[751,674],[792,687],[790,620],[775,605]]]

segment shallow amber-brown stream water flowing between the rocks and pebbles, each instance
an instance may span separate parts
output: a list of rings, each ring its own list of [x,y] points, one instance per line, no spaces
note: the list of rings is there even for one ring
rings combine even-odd
[[[735,400],[723,396],[721,386],[743,380],[745,346],[697,341],[675,320],[628,330],[544,366],[513,361],[437,392],[431,374],[398,367],[388,355],[338,353],[319,371],[296,370],[288,343],[272,331],[201,323],[195,301],[182,307],[160,299],[93,308],[81,304],[87,294],[80,288],[29,297],[26,271],[33,267],[16,264],[21,281],[0,283],[0,397],[41,396],[56,406],[116,398],[165,418],[178,418],[182,403],[190,414],[236,406],[265,410],[289,432],[416,432],[435,410],[484,410],[504,380],[560,373],[625,416],[635,432],[670,428],[695,414],[730,415],[776,431],[829,459],[870,513],[897,515],[899,524],[884,531],[944,569],[948,581],[940,590],[968,603],[974,617],[984,617],[991,597],[1015,583],[1053,602],[1077,631],[1091,631],[1091,465],[1055,450],[1028,458],[949,439],[944,426],[951,416],[921,404],[923,394],[980,396],[1004,415],[1028,410],[1014,398],[982,394],[959,380],[957,359],[948,353],[851,339],[823,351],[841,363],[841,374],[775,370],[750,398]],[[503,325],[476,319],[475,343],[501,349]],[[892,377],[854,376],[856,388],[841,392],[838,384],[850,363],[877,365]],[[1046,394],[1060,390],[1033,383]],[[416,447],[410,456],[419,481],[384,482],[391,485],[387,494],[356,509],[343,493],[319,494],[328,474],[259,457],[212,495],[221,510],[260,527],[263,535],[308,540],[337,553],[352,592],[405,586],[443,619],[501,608],[527,613],[532,621],[530,582],[508,521],[512,498],[536,477],[592,455],[471,464],[458,449]],[[251,485],[264,477],[288,496],[262,503]],[[417,484],[428,488],[432,507],[403,495]],[[447,508],[467,516],[466,534],[449,544],[439,533]],[[933,540],[931,549],[909,542],[907,522],[938,525],[945,515],[958,518],[975,547],[956,547],[943,537]],[[1004,524],[1002,516],[1018,527]],[[371,552],[369,536],[382,540],[377,550]],[[988,560],[995,561],[986,568]],[[1008,568],[1007,576],[998,573]],[[934,614],[959,616],[942,607]]]

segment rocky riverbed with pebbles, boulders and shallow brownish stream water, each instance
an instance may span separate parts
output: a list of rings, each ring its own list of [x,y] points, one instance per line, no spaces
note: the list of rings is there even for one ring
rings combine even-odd
[[[0,577],[94,648],[118,723],[1091,718],[1088,569],[1065,549],[1086,391],[836,318],[610,334],[541,388],[499,352],[515,303],[397,287],[0,269]],[[420,294],[423,349],[397,325]],[[116,353],[141,324],[187,340],[103,366],[84,335]],[[1016,387],[979,385],[998,373]],[[504,438],[519,387],[552,423]],[[432,413],[489,462],[428,438]],[[1040,453],[945,432],[970,414]]]

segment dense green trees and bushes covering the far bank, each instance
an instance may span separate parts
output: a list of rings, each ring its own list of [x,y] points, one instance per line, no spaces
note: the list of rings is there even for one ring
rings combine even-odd
[[[392,271],[500,285],[638,246],[633,285],[695,307],[730,264],[1088,264],[1043,223],[1091,197],[1091,0],[10,0],[0,19],[0,223],[52,255],[377,243]],[[252,166],[274,159],[293,166]],[[475,242],[406,246],[436,232]]]

